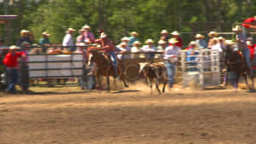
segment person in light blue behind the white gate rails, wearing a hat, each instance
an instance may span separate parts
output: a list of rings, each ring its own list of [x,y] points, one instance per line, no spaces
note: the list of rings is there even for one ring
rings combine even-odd
[[[199,46],[197,43],[195,43],[195,41],[191,41],[189,43],[189,47],[186,48],[187,53],[186,53],[186,60],[188,61],[188,71],[189,72],[195,72],[197,71],[197,56],[198,52],[196,52],[195,50],[198,49]]]

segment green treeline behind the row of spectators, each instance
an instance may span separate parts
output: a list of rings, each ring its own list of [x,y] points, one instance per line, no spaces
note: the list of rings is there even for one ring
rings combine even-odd
[[[253,0],[20,0],[8,13],[20,15],[13,24],[14,43],[20,29],[34,32],[36,40],[47,31],[51,42],[61,43],[68,27],[79,30],[84,24],[95,33],[102,28],[116,42],[131,31],[139,32],[142,42],[149,37],[156,41],[166,29],[181,32],[189,43],[196,32],[230,32],[234,23],[254,16],[255,10]]]

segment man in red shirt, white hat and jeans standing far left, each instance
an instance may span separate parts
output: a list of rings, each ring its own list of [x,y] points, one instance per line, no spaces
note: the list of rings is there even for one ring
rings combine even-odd
[[[23,52],[17,52],[17,49],[20,49],[19,47],[13,45],[9,47],[9,53],[5,55],[5,58],[3,60],[3,64],[7,66],[7,73],[8,73],[8,79],[9,79],[9,85],[7,89],[5,90],[8,93],[15,94],[16,89],[15,85],[18,83],[18,58],[26,57],[26,54]]]

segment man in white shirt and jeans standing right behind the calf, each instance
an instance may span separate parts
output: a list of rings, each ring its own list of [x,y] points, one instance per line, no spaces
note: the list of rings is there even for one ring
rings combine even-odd
[[[169,39],[169,44],[165,49],[165,55],[164,55],[164,60],[165,60],[165,65],[167,69],[167,75],[168,75],[168,83],[169,83],[169,88],[172,88],[174,84],[174,76],[175,76],[175,68],[177,65],[177,57],[179,55],[179,51],[181,50],[180,47],[177,47],[177,39],[176,38],[171,38]]]

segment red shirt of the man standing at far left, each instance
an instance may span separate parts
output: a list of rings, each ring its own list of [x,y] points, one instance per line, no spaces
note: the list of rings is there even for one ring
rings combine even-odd
[[[23,52],[16,52],[15,54],[8,53],[7,55],[5,55],[3,64],[9,68],[17,67],[18,66],[18,58],[21,55],[26,55],[26,54]]]

